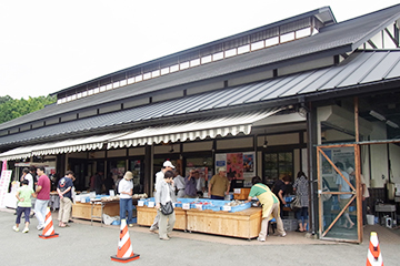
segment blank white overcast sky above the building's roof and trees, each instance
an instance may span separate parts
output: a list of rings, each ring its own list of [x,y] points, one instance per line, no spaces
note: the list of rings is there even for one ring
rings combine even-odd
[[[1,0],[0,96],[48,95],[330,6],[338,22],[397,4],[350,0]]]

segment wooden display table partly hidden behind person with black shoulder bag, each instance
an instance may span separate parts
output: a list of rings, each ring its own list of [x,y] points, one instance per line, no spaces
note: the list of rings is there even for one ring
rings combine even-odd
[[[186,211],[180,207],[174,208],[176,213],[176,224],[173,226],[174,229],[187,229],[187,215]],[[154,217],[157,215],[157,209],[153,207],[147,206],[137,206],[137,216],[138,216],[138,225],[151,226],[154,222]]]

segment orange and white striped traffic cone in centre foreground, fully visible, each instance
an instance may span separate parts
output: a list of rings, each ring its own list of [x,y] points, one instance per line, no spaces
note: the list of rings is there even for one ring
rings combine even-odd
[[[119,263],[128,263],[140,257],[139,254],[134,255],[132,245],[129,237],[129,231],[126,219],[121,219],[120,239],[118,243],[117,256],[111,256],[111,260]]]

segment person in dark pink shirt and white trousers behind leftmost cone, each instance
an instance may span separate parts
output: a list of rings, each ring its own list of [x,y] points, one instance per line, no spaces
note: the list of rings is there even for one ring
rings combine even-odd
[[[37,201],[34,204],[34,214],[39,222],[37,228],[43,229],[47,207],[50,201],[50,178],[44,174],[44,166],[37,170],[39,176],[38,185],[36,188]]]

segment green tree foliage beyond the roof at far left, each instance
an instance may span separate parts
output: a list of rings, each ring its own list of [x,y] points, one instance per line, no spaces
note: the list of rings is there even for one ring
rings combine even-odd
[[[56,96],[38,96],[28,100],[12,99],[9,95],[0,96],[0,124],[19,116],[43,109],[57,101]]]

